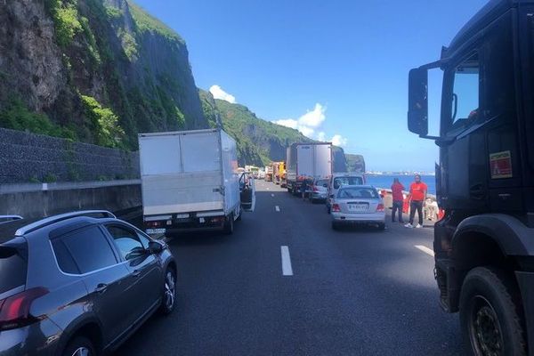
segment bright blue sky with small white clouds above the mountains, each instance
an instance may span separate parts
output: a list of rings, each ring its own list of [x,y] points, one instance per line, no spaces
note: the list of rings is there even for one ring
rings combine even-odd
[[[407,128],[409,69],[438,60],[487,3],[135,1],[185,39],[198,87],[362,154],[376,171],[433,171],[437,146]],[[440,78],[429,82],[431,128]]]

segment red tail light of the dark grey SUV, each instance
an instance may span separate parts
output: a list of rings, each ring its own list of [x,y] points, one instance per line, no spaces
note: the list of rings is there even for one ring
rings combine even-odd
[[[38,319],[29,313],[31,303],[47,293],[48,289],[36,287],[0,300],[0,331],[36,322]]]

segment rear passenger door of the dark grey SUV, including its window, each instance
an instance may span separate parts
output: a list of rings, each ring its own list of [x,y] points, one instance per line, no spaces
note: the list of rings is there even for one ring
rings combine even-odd
[[[79,276],[87,288],[87,305],[100,321],[105,344],[121,336],[130,325],[128,270],[121,263],[101,228],[93,225],[51,239],[63,273]]]

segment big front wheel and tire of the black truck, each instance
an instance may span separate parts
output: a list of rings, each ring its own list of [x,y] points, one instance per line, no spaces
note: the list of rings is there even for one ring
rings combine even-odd
[[[467,273],[460,324],[471,354],[526,355],[522,302],[512,276],[491,267]]]

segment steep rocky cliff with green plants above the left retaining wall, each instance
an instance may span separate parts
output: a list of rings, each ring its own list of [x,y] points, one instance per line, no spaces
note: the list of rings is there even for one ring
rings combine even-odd
[[[0,0],[0,126],[135,149],[205,128],[182,38],[125,0]]]

